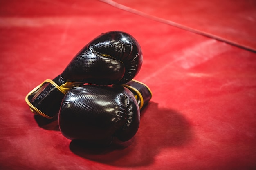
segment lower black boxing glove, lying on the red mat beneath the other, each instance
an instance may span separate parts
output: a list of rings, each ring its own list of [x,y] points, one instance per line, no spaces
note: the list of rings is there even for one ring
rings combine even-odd
[[[68,139],[89,146],[108,146],[113,137],[128,141],[137,132],[140,109],[152,93],[141,82],[125,85],[83,85],[72,88],[63,98],[58,123]]]

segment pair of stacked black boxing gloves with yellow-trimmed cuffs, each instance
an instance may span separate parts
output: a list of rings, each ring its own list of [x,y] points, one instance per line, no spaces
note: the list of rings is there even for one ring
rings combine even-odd
[[[32,90],[26,102],[36,115],[51,119],[59,113],[60,130],[71,140],[108,145],[116,136],[126,141],[137,132],[139,109],[152,96],[146,85],[130,81],[141,64],[141,49],[132,36],[119,31],[103,33],[61,75]]]

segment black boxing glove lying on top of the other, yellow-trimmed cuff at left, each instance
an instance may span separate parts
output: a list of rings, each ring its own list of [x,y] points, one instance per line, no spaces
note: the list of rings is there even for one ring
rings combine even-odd
[[[88,43],[55,79],[45,80],[26,96],[31,111],[53,118],[70,88],[89,84],[125,84],[142,65],[139,43],[120,31],[102,33]]]

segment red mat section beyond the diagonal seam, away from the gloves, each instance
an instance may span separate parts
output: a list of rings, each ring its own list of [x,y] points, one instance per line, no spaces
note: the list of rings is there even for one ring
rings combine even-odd
[[[255,0],[101,0],[147,18],[256,51]]]

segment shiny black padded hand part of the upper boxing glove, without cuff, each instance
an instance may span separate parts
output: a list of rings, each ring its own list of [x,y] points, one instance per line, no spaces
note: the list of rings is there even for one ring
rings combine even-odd
[[[61,74],[70,82],[90,84],[125,84],[142,65],[139,43],[120,31],[102,33],[73,58]]]

